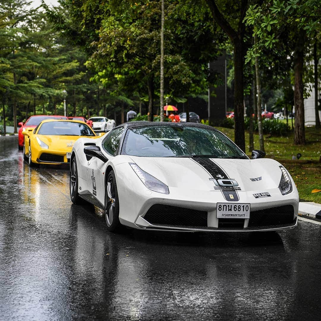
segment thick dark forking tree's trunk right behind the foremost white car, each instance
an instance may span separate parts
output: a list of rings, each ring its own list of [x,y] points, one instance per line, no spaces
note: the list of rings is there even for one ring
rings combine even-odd
[[[234,40],[234,142],[245,152],[243,38]]]

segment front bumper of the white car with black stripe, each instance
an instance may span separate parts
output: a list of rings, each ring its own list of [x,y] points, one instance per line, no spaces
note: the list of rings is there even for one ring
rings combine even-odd
[[[116,169],[124,165],[117,165]],[[122,171],[118,171],[119,220],[122,224],[136,229],[169,231],[276,231],[292,229],[297,225],[299,195],[296,189],[288,195],[281,195],[278,188],[268,189],[266,192],[271,197],[261,199],[253,196],[257,191],[239,191],[239,202],[233,202],[233,204],[249,203],[250,218],[234,220],[216,218],[217,203],[227,203],[220,191],[193,188],[169,187],[169,195],[160,194],[147,189],[134,171],[127,171],[124,177],[122,177]],[[160,220],[152,220],[151,215],[148,215],[155,205],[160,206],[157,213]],[[172,212],[168,210],[169,208],[172,208]],[[190,220],[183,220],[183,223],[173,220],[179,212],[184,218],[188,212]],[[193,220],[196,216],[197,219]],[[195,221],[202,223],[195,223]]]

